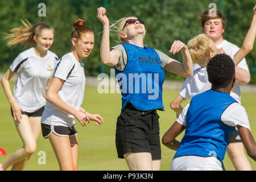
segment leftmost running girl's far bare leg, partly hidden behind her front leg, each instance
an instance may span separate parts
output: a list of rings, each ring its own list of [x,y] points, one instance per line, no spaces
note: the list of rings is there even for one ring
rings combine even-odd
[[[30,121],[32,133],[34,135],[35,141],[38,140],[39,135],[41,134],[41,117],[30,117],[28,118]],[[16,163],[11,168],[11,171],[21,171],[27,164],[28,159],[30,159],[31,155],[27,156],[27,158],[23,159],[22,161]]]

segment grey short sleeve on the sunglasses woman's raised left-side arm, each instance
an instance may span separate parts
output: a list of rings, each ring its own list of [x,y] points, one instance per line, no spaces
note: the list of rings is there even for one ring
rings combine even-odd
[[[117,44],[117,46],[112,47],[110,50],[116,49],[120,53],[119,63],[115,65],[115,69],[122,72],[127,64],[127,53],[125,47],[122,44]]]

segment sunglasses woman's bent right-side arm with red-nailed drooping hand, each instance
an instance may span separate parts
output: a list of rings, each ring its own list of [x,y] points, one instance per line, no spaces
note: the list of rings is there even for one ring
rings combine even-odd
[[[168,61],[164,69],[183,77],[192,77],[193,63],[192,63],[191,56],[188,52],[188,47],[184,43],[180,42],[179,40],[175,40],[169,52],[174,55],[180,50],[183,57],[183,63],[180,63],[179,61],[176,61],[175,59],[170,58],[170,60]]]

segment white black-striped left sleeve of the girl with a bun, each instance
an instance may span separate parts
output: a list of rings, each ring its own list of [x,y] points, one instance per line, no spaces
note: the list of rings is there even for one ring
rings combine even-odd
[[[60,59],[55,67],[53,77],[57,77],[66,81],[74,65],[75,64],[71,59]]]

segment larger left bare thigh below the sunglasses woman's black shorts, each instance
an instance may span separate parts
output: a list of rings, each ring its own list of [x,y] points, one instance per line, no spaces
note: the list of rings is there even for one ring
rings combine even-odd
[[[152,156],[148,152],[131,153],[123,155],[131,171],[152,171]]]

